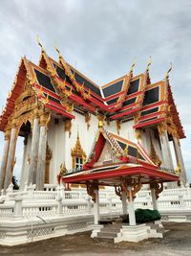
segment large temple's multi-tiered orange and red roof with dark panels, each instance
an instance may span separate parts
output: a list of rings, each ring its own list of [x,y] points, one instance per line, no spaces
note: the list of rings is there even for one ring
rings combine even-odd
[[[74,118],[71,113],[73,108],[93,114],[98,109],[111,121],[131,119],[136,114],[134,128],[144,128],[166,120],[167,109],[171,106],[179,136],[185,137],[169,81],[151,83],[148,69],[138,76],[134,76],[131,70],[129,74],[115,81],[98,86],[67,63],[60,53],[58,61],[55,61],[44,49],[38,65],[22,58],[7,105],[0,116],[1,130],[4,130],[7,124],[26,79],[30,80],[37,97],[46,107],[69,118]],[[68,107],[65,101],[62,101],[66,98],[74,107]]]

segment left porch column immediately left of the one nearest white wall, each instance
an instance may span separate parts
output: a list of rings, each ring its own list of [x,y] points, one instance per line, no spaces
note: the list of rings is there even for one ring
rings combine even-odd
[[[28,185],[35,183],[35,173],[37,167],[37,156],[38,156],[38,139],[39,139],[39,120],[37,117],[33,120],[32,125],[32,150],[31,150],[31,161],[30,161],[30,174],[28,179]]]

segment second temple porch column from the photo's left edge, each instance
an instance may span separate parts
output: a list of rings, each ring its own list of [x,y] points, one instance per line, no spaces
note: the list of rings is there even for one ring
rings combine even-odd
[[[6,177],[5,177],[5,183],[4,183],[5,190],[11,184],[12,172],[14,167],[15,148],[16,148],[16,128],[11,128],[10,150],[8,154],[8,163],[7,163]]]

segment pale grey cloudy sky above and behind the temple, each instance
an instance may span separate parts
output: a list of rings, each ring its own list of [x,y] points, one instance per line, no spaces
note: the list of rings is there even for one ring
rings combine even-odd
[[[18,63],[24,55],[37,63],[39,35],[47,53],[54,46],[76,68],[102,85],[129,72],[135,75],[153,58],[152,81],[173,63],[170,83],[186,139],[181,142],[191,173],[191,1],[190,0],[1,0],[0,107],[5,105]],[[0,158],[3,133],[0,132]],[[16,174],[22,141],[17,147]],[[191,180],[191,175],[190,180]]]

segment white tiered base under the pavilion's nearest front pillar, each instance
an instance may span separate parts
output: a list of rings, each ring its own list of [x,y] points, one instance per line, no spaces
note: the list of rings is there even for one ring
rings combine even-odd
[[[149,227],[146,224],[134,226],[123,225],[117,238],[115,238],[115,243],[122,241],[138,243],[139,241],[148,239],[148,229]]]

